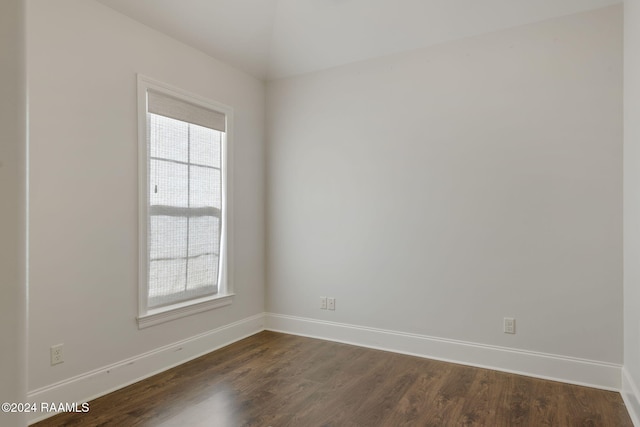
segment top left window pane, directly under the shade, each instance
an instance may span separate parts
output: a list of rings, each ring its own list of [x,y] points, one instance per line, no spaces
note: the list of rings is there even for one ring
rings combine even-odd
[[[189,124],[157,114],[149,114],[151,157],[188,160]]]

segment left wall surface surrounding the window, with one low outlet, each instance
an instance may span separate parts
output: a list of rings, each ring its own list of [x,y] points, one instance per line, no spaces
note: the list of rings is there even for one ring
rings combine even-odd
[[[29,2],[28,67],[29,390],[262,313],[263,83],[92,0]],[[144,330],[136,73],[235,110],[234,303]]]

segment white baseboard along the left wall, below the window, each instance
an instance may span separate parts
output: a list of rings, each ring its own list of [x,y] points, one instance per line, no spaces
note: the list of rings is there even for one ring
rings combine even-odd
[[[32,390],[28,402],[88,402],[264,330],[264,314]],[[31,413],[29,424],[55,415]]]

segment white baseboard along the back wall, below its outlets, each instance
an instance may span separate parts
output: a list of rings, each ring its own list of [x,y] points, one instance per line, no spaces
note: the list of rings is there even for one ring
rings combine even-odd
[[[265,329],[620,391],[621,365],[316,319],[265,314]]]

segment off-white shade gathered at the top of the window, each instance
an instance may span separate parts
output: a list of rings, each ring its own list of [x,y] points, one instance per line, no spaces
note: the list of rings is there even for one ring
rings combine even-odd
[[[147,111],[220,132],[226,131],[224,114],[152,90],[147,91]]]

